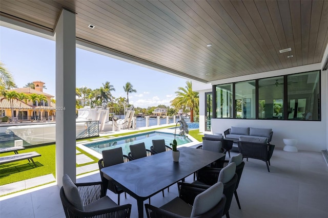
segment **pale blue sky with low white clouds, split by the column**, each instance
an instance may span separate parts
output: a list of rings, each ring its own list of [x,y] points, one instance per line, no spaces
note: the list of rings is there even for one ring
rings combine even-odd
[[[55,41],[0,27],[0,61],[18,88],[40,80],[45,82],[44,92],[55,96]],[[127,97],[123,86],[130,82],[137,93],[129,94],[129,103],[147,108],[170,106],[187,79],[76,48],[76,87],[93,90],[106,81],[114,86],[115,98]]]

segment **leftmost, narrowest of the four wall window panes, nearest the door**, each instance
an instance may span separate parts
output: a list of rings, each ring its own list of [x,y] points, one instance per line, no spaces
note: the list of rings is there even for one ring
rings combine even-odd
[[[232,83],[216,85],[216,118],[232,118]]]

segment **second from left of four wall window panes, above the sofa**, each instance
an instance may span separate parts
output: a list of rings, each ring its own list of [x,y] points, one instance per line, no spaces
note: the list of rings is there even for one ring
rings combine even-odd
[[[242,119],[255,119],[255,80],[236,82],[235,116]]]

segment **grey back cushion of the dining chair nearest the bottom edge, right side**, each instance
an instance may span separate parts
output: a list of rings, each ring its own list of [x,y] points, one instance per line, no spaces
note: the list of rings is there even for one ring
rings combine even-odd
[[[222,194],[223,184],[221,182],[215,183],[207,190],[198,194],[194,200],[194,205],[190,216],[199,216],[210,211],[221,201]]]

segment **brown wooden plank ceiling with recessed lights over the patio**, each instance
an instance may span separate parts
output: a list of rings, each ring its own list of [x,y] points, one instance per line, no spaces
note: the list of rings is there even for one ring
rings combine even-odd
[[[328,40],[328,1],[0,2],[1,16],[50,31],[61,8],[77,39],[202,82],[318,63]]]

